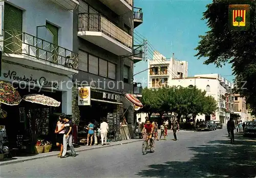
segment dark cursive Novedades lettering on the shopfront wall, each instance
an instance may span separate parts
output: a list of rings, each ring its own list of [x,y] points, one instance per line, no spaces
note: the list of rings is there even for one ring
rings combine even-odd
[[[52,87],[52,88],[58,88],[59,84],[58,82],[52,82],[48,81],[45,77],[40,77],[39,80],[34,79],[31,75],[30,77],[27,77],[26,75],[18,76],[16,71],[8,71],[8,73],[4,73],[4,78],[9,78],[10,80],[16,81],[16,82],[27,82],[34,85],[39,85],[39,87]]]

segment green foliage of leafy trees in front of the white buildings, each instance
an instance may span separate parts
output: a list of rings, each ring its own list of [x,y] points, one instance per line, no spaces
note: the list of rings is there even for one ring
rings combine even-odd
[[[149,115],[175,112],[180,116],[214,113],[218,108],[217,102],[205,94],[205,91],[196,87],[163,87],[158,90],[144,88],[141,97],[144,107],[139,111]]]

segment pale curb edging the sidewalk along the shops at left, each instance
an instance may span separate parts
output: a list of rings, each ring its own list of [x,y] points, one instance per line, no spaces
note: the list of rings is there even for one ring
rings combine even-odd
[[[134,143],[134,142],[139,142],[139,141],[142,141],[142,140],[140,139],[140,140],[126,141],[123,143],[115,143],[115,144],[109,144],[109,145],[104,145],[104,146],[85,148],[85,149],[76,150],[76,152],[87,151],[87,150],[92,150],[92,149],[100,149],[100,148],[104,148],[104,147],[111,147],[111,146],[117,146],[117,145],[123,145],[123,144],[129,144],[129,143]],[[6,162],[3,161],[2,163],[0,163],[0,166],[16,164],[16,163],[21,163],[21,162],[26,162],[26,161],[31,161],[31,160],[38,160],[38,159],[48,158],[48,157],[56,157],[56,153],[38,156],[38,157],[34,157],[34,158],[22,159],[22,160],[10,160],[10,161],[6,161]]]

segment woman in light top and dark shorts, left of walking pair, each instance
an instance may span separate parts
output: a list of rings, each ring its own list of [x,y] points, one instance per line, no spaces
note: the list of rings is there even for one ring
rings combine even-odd
[[[64,121],[63,121],[63,116],[60,115],[59,116],[59,120],[56,124],[56,129],[55,129],[55,133],[60,131],[62,128],[64,128]],[[58,157],[61,157],[62,155],[62,151],[63,151],[63,136],[65,134],[65,131],[64,130],[61,130],[59,133],[56,134],[57,136],[57,139],[56,139],[56,146],[60,146],[60,152],[59,152],[59,155]]]

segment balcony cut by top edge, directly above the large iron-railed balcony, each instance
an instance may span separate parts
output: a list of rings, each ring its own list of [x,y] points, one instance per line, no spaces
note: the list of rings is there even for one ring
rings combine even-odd
[[[108,6],[117,15],[122,15],[133,10],[133,0],[99,0]]]

